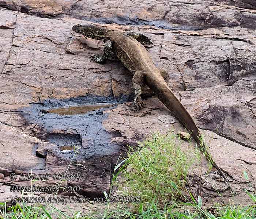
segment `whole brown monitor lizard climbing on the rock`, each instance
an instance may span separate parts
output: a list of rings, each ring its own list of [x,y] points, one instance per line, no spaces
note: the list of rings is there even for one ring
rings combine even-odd
[[[161,100],[161,102],[173,112],[176,118],[192,132],[193,138],[202,146],[202,150],[206,155],[206,158],[218,170],[233,192],[226,176],[208,153],[204,141],[200,141],[202,135],[194,120],[169,88],[168,73],[164,70],[158,69],[154,65],[150,54],[144,46],[142,46],[142,44],[151,44],[152,42],[150,38],[135,31],[120,32],[91,24],[75,25],[72,27],[72,30],[83,34],[85,37],[100,39],[105,42],[102,55],[92,55],[91,60],[103,63],[109,58],[113,51],[123,65],[133,74],[132,91],[134,95],[134,103],[137,109],[144,107],[143,101],[140,97],[142,87],[146,84],[154,91],[158,96],[158,99]]]

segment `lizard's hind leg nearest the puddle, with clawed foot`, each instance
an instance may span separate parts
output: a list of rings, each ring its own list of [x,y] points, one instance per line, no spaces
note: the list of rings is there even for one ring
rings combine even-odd
[[[137,71],[132,77],[132,93],[134,96],[133,103],[135,104],[136,109],[140,110],[145,107],[140,95],[142,93],[141,89],[144,87],[144,74],[140,71]]]

